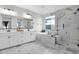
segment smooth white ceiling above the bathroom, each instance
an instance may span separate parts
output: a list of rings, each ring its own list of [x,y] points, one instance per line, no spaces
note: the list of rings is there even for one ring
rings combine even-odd
[[[16,5],[16,6],[28,9],[40,15],[48,14],[51,12],[55,12],[59,9],[69,7],[69,5]]]

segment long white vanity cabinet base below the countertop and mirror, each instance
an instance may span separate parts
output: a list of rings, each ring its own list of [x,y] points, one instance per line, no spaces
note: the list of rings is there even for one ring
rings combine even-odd
[[[0,49],[16,46],[35,40],[33,32],[0,33]]]

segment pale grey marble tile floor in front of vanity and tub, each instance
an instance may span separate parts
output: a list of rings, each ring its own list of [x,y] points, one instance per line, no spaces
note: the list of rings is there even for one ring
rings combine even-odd
[[[58,45],[56,47],[59,48]],[[0,54],[72,54],[73,52],[65,49],[51,49],[42,46],[37,42],[31,42],[20,46],[12,47],[0,51]]]

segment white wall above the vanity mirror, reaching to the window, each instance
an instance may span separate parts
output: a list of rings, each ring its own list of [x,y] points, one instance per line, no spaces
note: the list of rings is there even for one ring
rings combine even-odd
[[[19,7],[13,6],[13,5],[9,5],[9,6],[1,5],[0,8],[13,9],[16,12],[16,15],[11,15],[11,16],[16,16],[18,18],[24,17],[25,13],[26,14],[29,13],[30,15],[32,15],[32,19],[33,19],[33,24],[32,24],[33,25],[33,29],[31,29],[31,30],[32,31],[36,31],[36,32],[40,32],[41,31],[41,29],[42,29],[42,17],[39,14],[36,14],[36,13],[31,12],[31,11],[29,11],[27,9],[19,8]],[[0,14],[3,14],[3,13],[1,13],[1,9],[0,9]],[[15,24],[15,23],[17,23],[17,21],[14,21],[14,20],[15,20],[15,18],[13,18],[13,20],[12,20],[13,28],[15,28],[15,26],[17,26],[17,24]],[[1,19],[0,19],[0,21],[1,21]],[[1,25],[1,23],[0,23],[0,25]]]

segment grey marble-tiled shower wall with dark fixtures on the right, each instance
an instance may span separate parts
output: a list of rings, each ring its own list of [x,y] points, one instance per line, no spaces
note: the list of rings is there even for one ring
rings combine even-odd
[[[61,42],[79,44],[79,6],[71,6],[55,12],[56,30]],[[64,24],[64,25],[63,25]]]

